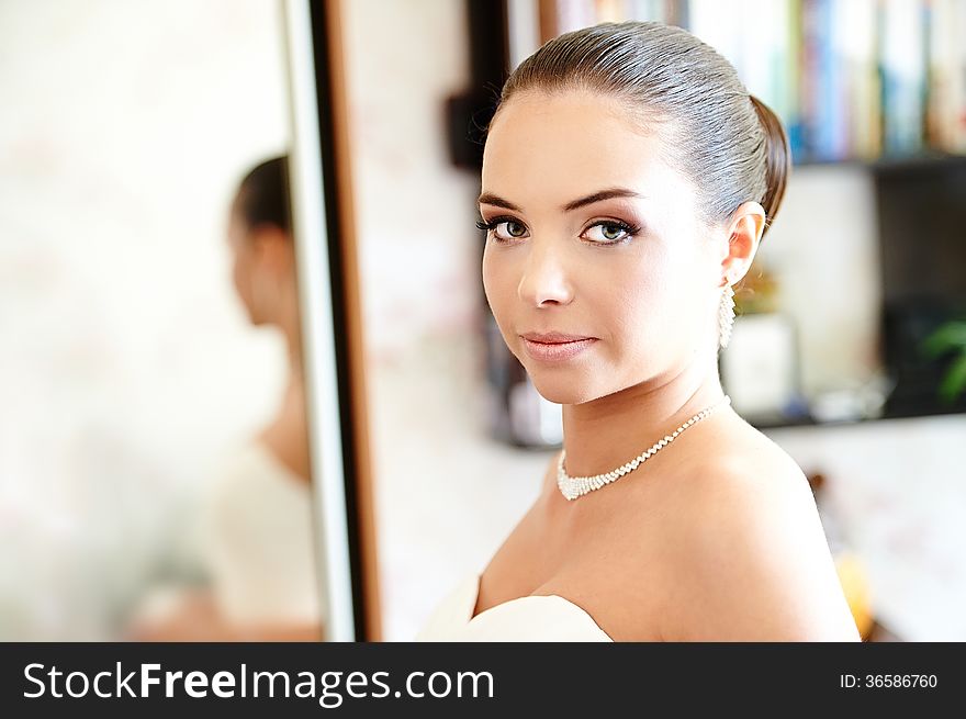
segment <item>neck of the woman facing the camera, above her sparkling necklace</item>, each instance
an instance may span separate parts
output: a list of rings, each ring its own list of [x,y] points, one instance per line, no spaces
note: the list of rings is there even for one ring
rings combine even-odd
[[[566,472],[608,472],[722,397],[717,364],[704,360],[598,400],[564,405]]]

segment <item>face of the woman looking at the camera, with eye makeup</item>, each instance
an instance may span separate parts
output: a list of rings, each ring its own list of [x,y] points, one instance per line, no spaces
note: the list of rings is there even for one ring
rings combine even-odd
[[[491,125],[483,283],[551,402],[661,384],[716,347],[714,231],[663,149],[620,102],[585,91],[525,92]]]

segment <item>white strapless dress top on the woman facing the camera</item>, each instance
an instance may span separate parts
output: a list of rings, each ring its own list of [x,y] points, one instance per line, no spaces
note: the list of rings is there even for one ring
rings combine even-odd
[[[479,574],[463,578],[416,641],[614,641],[584,609],[555,594],[518,597],[474,617],[479,592]]]

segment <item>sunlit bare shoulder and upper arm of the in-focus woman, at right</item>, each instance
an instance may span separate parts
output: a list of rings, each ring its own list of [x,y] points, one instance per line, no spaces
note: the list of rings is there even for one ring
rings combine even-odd
[[[799,467],[748,425],[732,426],[721,439],[687,468],[667,523],[662,636],[857,640]]]

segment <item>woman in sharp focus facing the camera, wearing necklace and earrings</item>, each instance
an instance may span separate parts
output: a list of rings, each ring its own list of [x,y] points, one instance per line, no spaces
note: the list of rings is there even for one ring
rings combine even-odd
[[[858,640],[806,478],[718,377],[788,171],[776,116],[681,29],[587,27],[513,72],[483,281],[563,451],[418,639]]]

